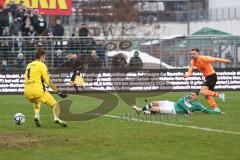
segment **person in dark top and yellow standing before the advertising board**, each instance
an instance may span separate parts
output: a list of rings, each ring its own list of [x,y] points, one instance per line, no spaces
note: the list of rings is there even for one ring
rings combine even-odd
[[[81,75],[80,70],[77,69],[76,71],[73,72],[73,75],[70,80],[70,84],[75,88],[77,93],[80,93],[79,87],[82,88],[82,90],[83,90],[84,83],[85,83],[85,81],[83,79],[83,76]]]

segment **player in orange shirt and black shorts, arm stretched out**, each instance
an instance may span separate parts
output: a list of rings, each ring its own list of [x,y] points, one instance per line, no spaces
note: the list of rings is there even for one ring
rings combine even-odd
[[[202,72],[203,76],[205,77],[205,82],[201,87],[200,93],[205,96],[208,103],[212,106],[215,111],[221,111],[216,102],[214,101],[213,97],[218,97],[220,100],[225,102],[225,95],[224,93],[219,94],[214,92],[214,87],[217,83],[217,74],[213,69],[212,62],[222,62],[222,63],[231,63],[228,59],[223,58],[214,58],[210,56],[203,56],[201,55],[199,49],[193,48],[191,50],[192,61],[188,72],[185,73],[184,78],[188,78],[192,75],[192,71],[194,67],[196,67],[200,72]]]

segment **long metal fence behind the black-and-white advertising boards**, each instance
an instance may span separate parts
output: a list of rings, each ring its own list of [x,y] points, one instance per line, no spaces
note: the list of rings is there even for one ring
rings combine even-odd
[[[186,68],[191,60],[191,48],[199,48],[204,55],[227,58],[232,61],[229,65],[215,63],[214,66],[217,68],[240,67],[240,37],[238,36],[110,39],[104,37],[1,37],[1,71],[24,70],[26,64],[34,59],[37,48],[43,48],[46,51],[50,71],[74,65],[88,65],[101,69],[109,69],[112,66],[127,67],[136,51],[143,62],[143,66],[140,67],[153,64],[155,68]],[[118,58],[125,59],[126,63],[120,63]],[[114,64],[118,62],[120,65]]]

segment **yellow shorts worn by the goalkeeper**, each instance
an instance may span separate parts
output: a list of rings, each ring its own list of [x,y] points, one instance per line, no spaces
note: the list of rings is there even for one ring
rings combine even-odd
[[[28,100],[34,104],[44,103],[44,104],[48,105],[49,107],[53,107],[57,104],[57,101],[47,91],[45,91],[40,97],[36,97],[33,99],[28,99]]]

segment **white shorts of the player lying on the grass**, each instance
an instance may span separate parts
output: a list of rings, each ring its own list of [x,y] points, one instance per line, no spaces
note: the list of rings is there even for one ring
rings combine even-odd
[[[159,110],[163,114],[176,114],[174,102],[171,101],[159,101]]]

